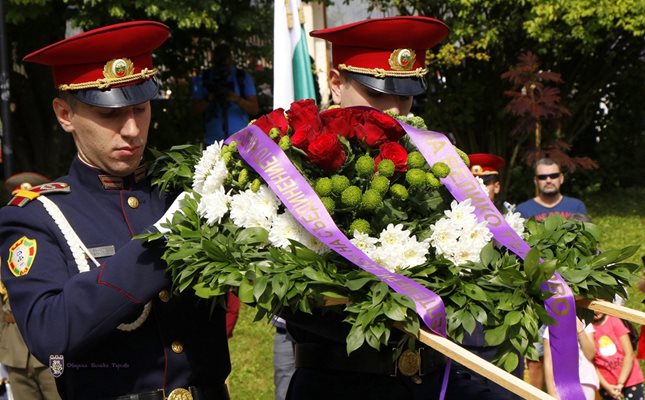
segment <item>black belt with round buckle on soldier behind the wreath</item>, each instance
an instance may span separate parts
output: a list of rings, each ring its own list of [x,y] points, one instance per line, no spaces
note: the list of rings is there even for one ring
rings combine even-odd
[[[389,376],[423,376],[445,365],[443,356],[427,347],[405,350],[398,358],[394,350],[359,349],[349,356],[345,346],[296,343],[296,368],[315,368]]]

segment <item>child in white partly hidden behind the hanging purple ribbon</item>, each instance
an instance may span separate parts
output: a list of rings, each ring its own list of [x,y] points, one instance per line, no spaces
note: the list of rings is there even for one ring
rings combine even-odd
[[[579,318],[576,318],[578,329],[578,376],[582,391],[586,400],[594,400],[598,393],[599,381],[596,368],[592,361],[596,353],[594,348],[593,335],[594,327],[591,324],[586,325]],[[585,326],[586,325],[586,326]],[[559,399],[560,396],[555,387],[555,378],[553,377],[553,361],[551,357],[551,346],[549,344],[549,328],[544,331],[544,380],[546,382],[547,392]]]

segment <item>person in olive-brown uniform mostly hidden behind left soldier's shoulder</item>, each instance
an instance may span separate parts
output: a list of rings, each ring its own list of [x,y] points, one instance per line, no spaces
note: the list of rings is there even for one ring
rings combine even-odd
[[[49,178],[35,172],[20,172],[7,178],[4,188],[7,193],[13,193],[18,190],[31,190],[34,186],[49,181]],[[2,269],[0,268],[1,273]],[[2,321],[0,321],[0,325],[2,325],[0,330],[0,363],[7,368],[13,398],[60,399],[49,367],[38,361],[27,349],[16,326],[7,290],[1,281],[0,302],[3,313]]]

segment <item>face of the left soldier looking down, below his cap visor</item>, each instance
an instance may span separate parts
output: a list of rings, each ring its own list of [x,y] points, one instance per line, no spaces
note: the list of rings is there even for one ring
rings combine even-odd
[[[139,166],[148,140],[150,102],[121,108],[73,107],[54,100],[54,112],[66,132],[74,136],[79,157],[108,174],[127,176]]]

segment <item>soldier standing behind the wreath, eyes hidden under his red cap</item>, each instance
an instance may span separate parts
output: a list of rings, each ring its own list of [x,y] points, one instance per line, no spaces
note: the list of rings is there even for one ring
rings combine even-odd
[[[447,35],[443,22],[419,16],[370,19],[311,32],[332,43],[329,81],[334,102],[402,115],[410,112],[413,96],[426,91],[426,50]],[[415,352],[396,359],[394,347],[402,332],[392,332],[392,346],[381,351],[365,344],[348,356],[345,338],[350,325],[342,312],[285,312],[283,317],[296,341],[296,372],[288,400],[439,398],[445,358],[417,343]],[[471,385],[468,376],[453,371],[446,399],[495,399],[487,387]]]

